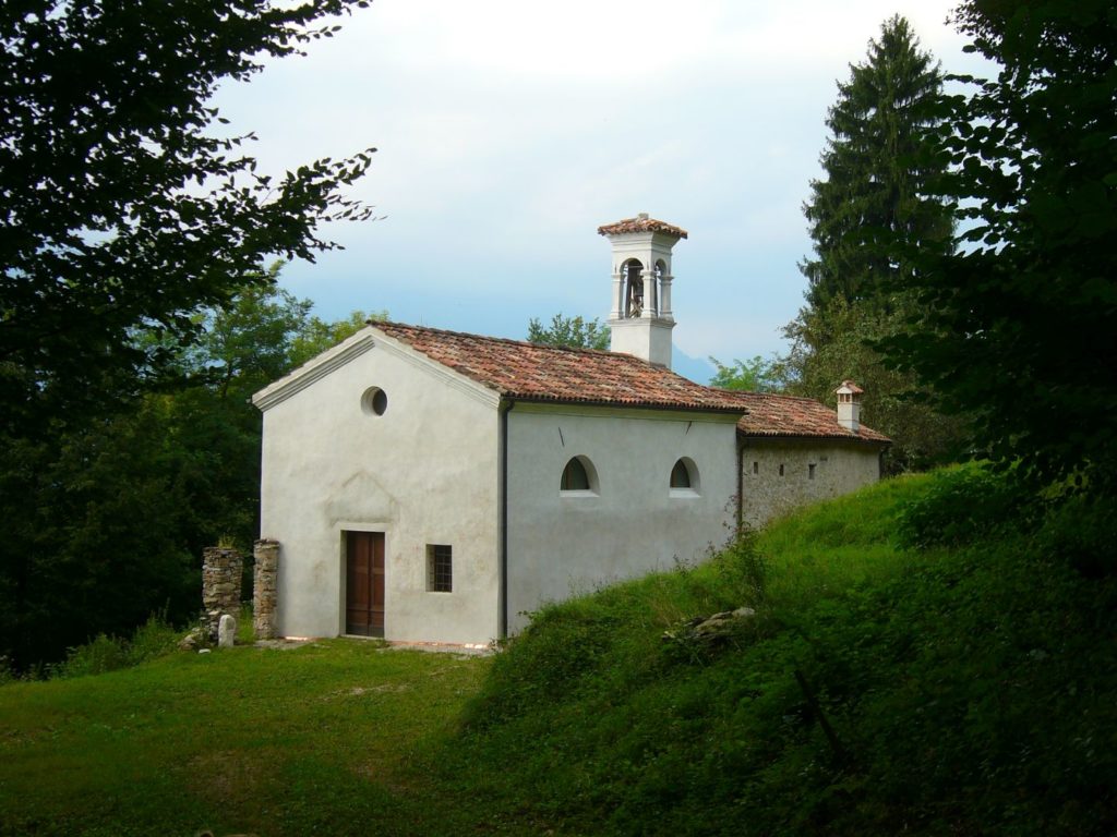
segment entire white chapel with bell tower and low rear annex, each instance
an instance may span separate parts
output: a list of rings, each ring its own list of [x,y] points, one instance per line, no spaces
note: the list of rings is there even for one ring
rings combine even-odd
[[[879,478],[888,439],[851,382],[836,414],[670,371],[685,230],[599,232],[611,352],[376,323],[254,396],[278,635],[488,643]]]

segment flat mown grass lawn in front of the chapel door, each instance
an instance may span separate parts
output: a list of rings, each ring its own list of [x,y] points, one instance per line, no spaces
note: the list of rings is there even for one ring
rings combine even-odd
[[[334,639],[3,686],[0,833],[475,830],[421,766],[488,665]]]

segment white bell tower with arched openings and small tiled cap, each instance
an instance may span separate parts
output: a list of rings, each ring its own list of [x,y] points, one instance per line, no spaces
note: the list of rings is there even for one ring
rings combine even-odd
[[[613,246],[610,349],[670,368],[671,248],[687,231],[641,212],[599,227],[598,233]]]

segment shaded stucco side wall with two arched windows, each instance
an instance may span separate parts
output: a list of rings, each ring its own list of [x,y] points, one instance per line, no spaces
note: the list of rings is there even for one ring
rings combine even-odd
[[[576,410],[518,403],[508,414],[508,620],[603,583],[691,561],[729,536],[736,416]],[[586,456],[594,492],[563,493],[571,458]],[[672,491],[679,458],[697,491]]]

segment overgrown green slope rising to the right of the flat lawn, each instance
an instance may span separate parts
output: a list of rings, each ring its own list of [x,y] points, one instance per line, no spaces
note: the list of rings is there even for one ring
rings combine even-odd
[[[1067,545],[1117,532],[1078,501],[1021,530],[1020,500],[976,466],[890,481],[755,551],[547,608],[438,776],[468,764],[495,808],[572,834],[1108,834],[1117,584]],[[897,520],[960,506],[954,547],[899,547]],[[726,602],[757,609],[729,643],[659,638]]]

